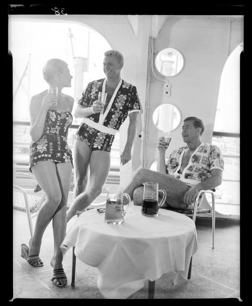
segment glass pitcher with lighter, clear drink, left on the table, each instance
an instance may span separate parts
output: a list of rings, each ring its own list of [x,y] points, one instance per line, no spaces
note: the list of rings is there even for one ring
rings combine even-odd
[[[123,205],[124,197],[127,198],[127,205]],[[110,224],[121,224],[124,222],[123,216],[128,210],[130,202],[130,196],[123,193],[121,187],[109,187],[107,189],[105,222]],[[127,206],[126,209],[124,208],[125,206]]]

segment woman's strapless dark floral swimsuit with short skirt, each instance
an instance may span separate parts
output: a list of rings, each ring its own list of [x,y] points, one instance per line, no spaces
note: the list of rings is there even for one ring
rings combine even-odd
[[[29,170],[42,161],[71,162],[72,152],[67,144],[67,133],[73,121],[70,111],[49,109],[46,113],[43,133],[36,142],[30,145]]]

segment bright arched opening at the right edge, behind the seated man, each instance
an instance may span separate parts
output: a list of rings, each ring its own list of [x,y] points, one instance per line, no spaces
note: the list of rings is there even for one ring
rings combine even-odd
[[[224,157],[223,182],[217,188],[217,203],[226,214],[239,214],[240,182],[240,53],[243,43],[228,57],[222,71],[212,143]],[[228,206],[226,205],[228,204]]]

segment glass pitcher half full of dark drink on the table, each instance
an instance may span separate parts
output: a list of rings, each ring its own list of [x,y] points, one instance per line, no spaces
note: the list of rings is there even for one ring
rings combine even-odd
[[[163,206],[166,200],[166,192],[163,189],[158,189],[158,183],[147,181],[143,183],[144,195],[142,201],[142,215],[147,217],[157,217],[158,209]],[[163,194],[163,198],[158,203],[158,193]]]

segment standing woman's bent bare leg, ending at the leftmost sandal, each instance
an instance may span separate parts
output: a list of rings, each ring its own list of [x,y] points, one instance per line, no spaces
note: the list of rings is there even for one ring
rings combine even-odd
[[[37,216],[34,235],[30,240],[29,256],[39,254],[43,233],[62,198],[56,173],[56,165],[53,162],[40,162],[32,167],[32,172],[45,193],[45,202],[41,206]]]

